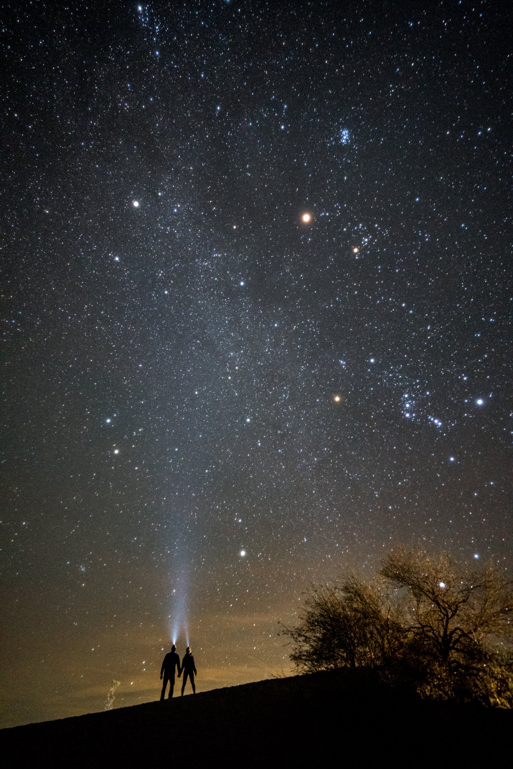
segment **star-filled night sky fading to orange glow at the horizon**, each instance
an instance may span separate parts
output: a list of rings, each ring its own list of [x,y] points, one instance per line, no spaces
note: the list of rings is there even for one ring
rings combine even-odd
[[[511,568],[511,16],[2,22],[2,726],[290,671],[405,542]]]

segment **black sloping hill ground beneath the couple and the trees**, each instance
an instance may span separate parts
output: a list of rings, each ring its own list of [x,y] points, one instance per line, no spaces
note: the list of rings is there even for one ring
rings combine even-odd
[[[388,766],[511,755],[513,713],[421,701],[361,671],[215,689],[0,731],[4,766]]]

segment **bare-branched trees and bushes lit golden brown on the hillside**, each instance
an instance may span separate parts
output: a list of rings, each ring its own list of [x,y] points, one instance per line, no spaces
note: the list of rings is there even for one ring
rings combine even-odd
[[[291,638],[300,671],[374,667],[422,695],[513,704],[513,587],[494,568],[397,548],[378,578],[312,591]]]

